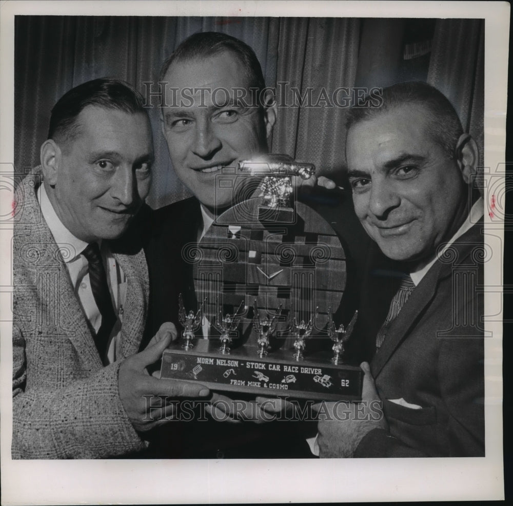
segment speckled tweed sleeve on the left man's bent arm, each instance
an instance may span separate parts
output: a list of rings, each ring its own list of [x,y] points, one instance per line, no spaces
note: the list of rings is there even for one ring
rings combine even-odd
[[[13,326],[12,458],[107,458],[143,450],[121,403],[114,362],[63,388],[26,390],[25,340]]]

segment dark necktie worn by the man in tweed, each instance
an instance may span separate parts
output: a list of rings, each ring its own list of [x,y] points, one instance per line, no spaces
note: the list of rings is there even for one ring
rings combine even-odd
[[[107,350],[107,342],[117,318],[110,299],[109,285],[107,284],[107,276],[100,254],[100,247],[97,243],[93,242],[82,251],[82,255],[86,257],[89,263],[91,290],[94,302],[96,302],[96,306],[102,315],[102,325],[94,336],[94,343],[103,361]]]

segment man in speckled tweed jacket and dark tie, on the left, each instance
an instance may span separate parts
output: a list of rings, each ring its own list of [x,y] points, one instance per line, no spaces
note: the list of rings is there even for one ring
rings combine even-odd
[[[15,196],[13,458],[132,454],[147,446],[146,431],[167,421],[167,401],[208,394],[146,373],[175,337],[174,325],[137,353],[148,273],[133,218],[152,159],[142,97],[125,83],[84,83],[53,108],[41,166]],[[119,309],[100,344],[107,318],[83,258],[93,243],[101,243],[104,286]]]

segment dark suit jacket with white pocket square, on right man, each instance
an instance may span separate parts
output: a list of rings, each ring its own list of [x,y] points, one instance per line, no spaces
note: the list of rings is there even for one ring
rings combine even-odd
[[[482,228],[449,247],[391,323],[370,362],[390,430],[369,432],[356,457],[484,456]]]

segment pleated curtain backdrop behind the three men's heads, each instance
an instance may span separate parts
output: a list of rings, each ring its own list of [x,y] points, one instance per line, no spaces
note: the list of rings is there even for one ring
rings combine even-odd
[[[16,16],[18,176],[39,163],[50,110],[67,90],[110,76],[132,83],[144,94],[149,86],[144,83],[156,83],[166,57],[199,31],[228,33],[253,48],[267,86],[285,97],[280,103],[278,96],[271,151],[313,162],[321,174],[338,179],[343,173],[344,124],[354,87],[412,79],[427,81],[449,97],[482,152],[482,20]],[[412,56],[411,47],[424,49],[415,49]],[[343,90],[337,94],[341,88],[349,88],[349,95]],[[148,203],[156,208],[190,193],[169,162],[158,107],[148,112],[156,157]]]

